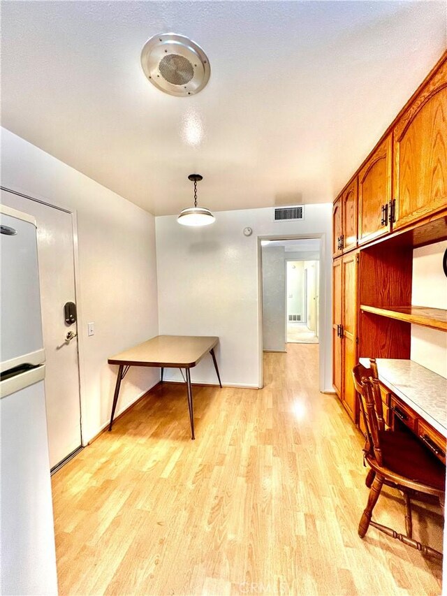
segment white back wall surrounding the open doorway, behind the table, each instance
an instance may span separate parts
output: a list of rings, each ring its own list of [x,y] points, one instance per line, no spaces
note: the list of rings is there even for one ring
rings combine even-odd
[[[321,263],[321,388],[333,391],[331,363],[332,203],[306,205],[303,221],[275,222],[272,210],[221,211],[205,228],[156,217],[160,333],[219,335],[217,358],[225,384],[258,386],[261,378],[258,237],[323,234]],[[253,228],[246,237],[244,227]],[[180,378],[167,371],[166,378]],[[194,381],[215,383],[209,358],[191,371]]]

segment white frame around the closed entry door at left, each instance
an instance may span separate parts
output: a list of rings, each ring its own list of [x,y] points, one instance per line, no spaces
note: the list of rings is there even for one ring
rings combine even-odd
[[[57,205],[51,201],[49,201],[45,197],[40,197],[38,195],[31,196],[27,194],[27,192],[22,191],[21,189],[10,189],[8,187],[0,186],[0,189],[11,194],[16,194],[17,196],[22,196],[23,198],[28,198],[29,201],[34,201],[35,203],[41,203],[42,205],[46,205],[47,207],[51,207],[53,209],[57,209],[59,211],[64,211],[71,215],[71,226],[73,229],[73,271],[75,276],[75,300],[76,300],[76,313],[78,315],[78,336],[76,339],[78,340],[78,378],[79,378],[79,400],[80,400],[80,433],[81,433],[81,445],[85,447],[87,442],[85,442],[84,435],[82,433],[83,427],[83,414],[87,412],[87,404],[85,403],[84,399],[84,391],[82,389],[85,387],[85,379],[83,377],[83,371],[85,370],[84,362],[82,359],[82,355],[84,354],[83,349],[83,334],[80,333],[80,330],[83,328],[83,319],[82,319],[82,306],[81,306],[81,293],[80,293],[80,284],[79,284],[79,254],[78,254],[78,214],[76,210],[67,209],[62,205]]]

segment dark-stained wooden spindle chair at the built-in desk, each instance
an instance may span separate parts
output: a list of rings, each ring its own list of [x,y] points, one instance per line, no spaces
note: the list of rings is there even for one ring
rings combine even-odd
[[[442,553],[412,537],[411,495],[416,492],[434,495],[444,507],[446,468],[411,433],[385,430],[376,362],[372,358],[370,363],[371,368],[361,364],[353,368],[354,384],[360,395],[360,414],[366,429],[363,451],[365,462],[370,468],[366,479],[366,485],[370,488],[369,497],[360,518],[358,535],[363,538],[369,525],[372,525],[425,555],[442,558]],[[397,488],[404,495],[406,535],[371,519],[383,484]]]

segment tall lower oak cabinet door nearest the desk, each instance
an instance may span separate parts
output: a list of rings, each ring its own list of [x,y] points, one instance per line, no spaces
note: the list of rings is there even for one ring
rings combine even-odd
[[[356,421],[356,388],[352,369],[357,363],[357,254],[343,257],[343,404]]]

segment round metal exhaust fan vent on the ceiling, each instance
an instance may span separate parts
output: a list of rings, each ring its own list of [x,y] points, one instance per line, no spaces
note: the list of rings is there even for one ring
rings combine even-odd
[[[151,37],[142,48],[141,66],[154,87],[180,97],[201,91],[211,72],[202,48],[174,33]]]

